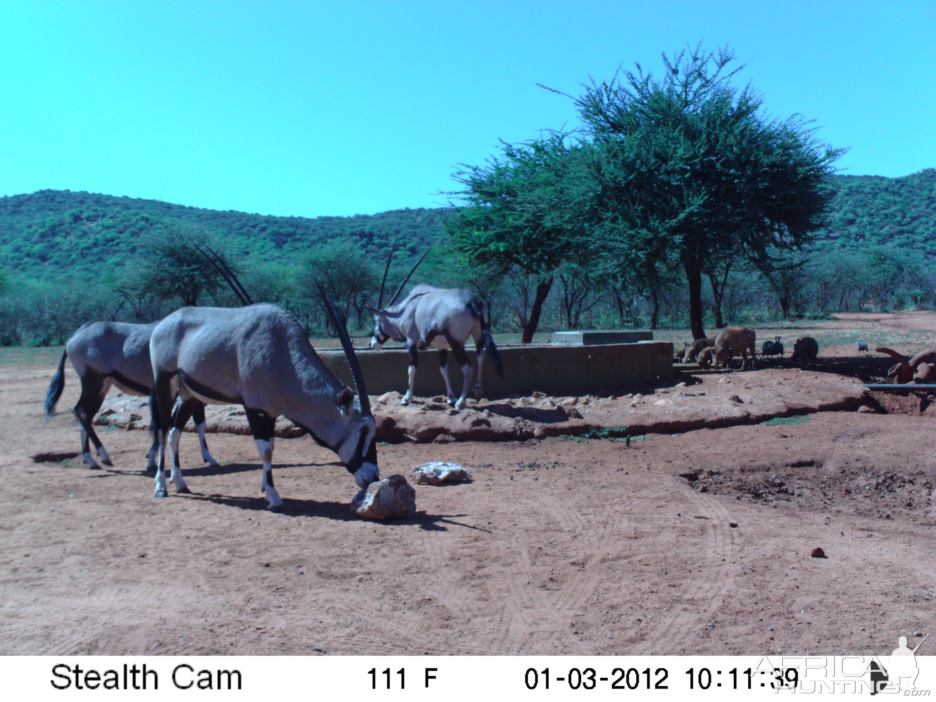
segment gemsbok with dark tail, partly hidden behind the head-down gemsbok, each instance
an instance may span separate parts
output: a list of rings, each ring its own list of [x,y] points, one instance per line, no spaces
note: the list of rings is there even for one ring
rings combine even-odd
[[[46,392],[46,417],[55,414],[55,404],[65,389],[65,360],[71,358],[81,381],[81,396],[75,405],[75,416],[81,428],[81,457],[89,468],[100,468],[88,446],[90,438],[97,456],[105,465],[111,465],[108,450],[97,438],[92,422],[104,402],[111,385],[130,395],[149,396],[153,391],[153,366],[150,363],[150,337],[154,324],[127,324],[125,322],[88,322],[72,334],[65,344],[58,371],[52,376]],[[201,402],[180,405],[177,421],[185,426],[194,418],[201,442],[201,458],[217,465],[205,442],[205,406]],[[147,455],[148,469],[156,467],[158,443],[155,438]]]

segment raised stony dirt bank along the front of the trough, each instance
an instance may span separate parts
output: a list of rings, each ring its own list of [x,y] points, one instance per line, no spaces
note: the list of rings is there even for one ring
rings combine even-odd
[[[612,438],[757,424],[773,417],[851,411],[868,402],[854,378],[832,373],[769,368],[747,373],[683,375],[663,388],[641,388],[620,396],[531,397],[472,401],[464,410],[446,398],[414,398],[400,404],[398,392],[372,397],[377,438],[390,443],[525,441],[550,436]],[[95,423],[146,429],[146,400],[111,394]],[[243,409],[209,405],[208,431],[248,434]],[[276,435],[303,431],[280,417]]]

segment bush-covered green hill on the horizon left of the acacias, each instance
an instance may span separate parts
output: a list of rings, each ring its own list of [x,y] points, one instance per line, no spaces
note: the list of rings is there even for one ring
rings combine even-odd
[[[235,256],[264,262],[289,260],[342,237],[358,239],[368,256],[384,261],[394,241],[403,258],[425,251],[439,240],[445,215],[443,209],[406,209],[353,217],[272,217],[40,190],[0,197],[0,269],[47,280],[94,275],[102,264],[120,266],[134,256],[145,235],[171,227],[204,232]]]

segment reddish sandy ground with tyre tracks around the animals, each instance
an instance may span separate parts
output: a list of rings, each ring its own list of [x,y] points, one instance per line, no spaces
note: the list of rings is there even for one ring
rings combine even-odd
[[[56,353],[7,353],[0,652],[881,653],[899,635],[914,646],[936,596],[930,396],[819,412],[800,401],[885,372],[889,359],[857,358],[854,341],[920,350],[934,323],[848,315],[758,329],[782,335],[787,356],[796,336],[815,336],[818,369],[767,361],[642,388],[633,405],[633,392],[578,399],[603,426],[638,426],[627,415],[644,413],[630,446],[582,435],[381,445],[383,475],[425,461],[475,475],[417,486],[416,518],[391,522],[349,511],[353,479],[307,437],[277,442],[285,514],[266,511],[256,447],[238,434],[209,435],[217,468],[183,437],[190,495],[154,499],[145,431],[102,428],[114,467],[89,471],[68,411],[74,373],[46,422]],[[698,394],[724,377],[741,403]],[[768,401],[811,414],[750,416]],[[740,407],[760,423],[651,431],[673,402],[719,416]],[[827,557],[812,558],[816,547]]]

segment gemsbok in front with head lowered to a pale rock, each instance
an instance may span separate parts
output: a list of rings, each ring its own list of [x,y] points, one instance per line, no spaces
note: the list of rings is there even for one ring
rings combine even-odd
[[[278,305],[184,307],[160,322],[150,339],[159,429],[169,426],[177,392],[183,399],[243,405],[263,464],[261,490],[273,511],[283,508],[272,475],[273,431],[281,415],[337,453],[362,491],[380,477],[376,425],[364,377],[347,329],[321,287],[319,292],[348,358],[359,409],[354,406],[355,393],[318,357],[296,317]],[[166,496],[167,445],[171,482],[176,491],[188,492],[179,467],[179,432],[167,436],[160,431],[160,439],[156,497]]]

